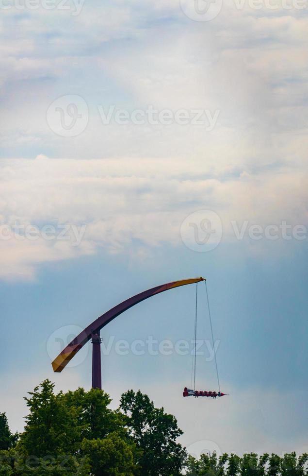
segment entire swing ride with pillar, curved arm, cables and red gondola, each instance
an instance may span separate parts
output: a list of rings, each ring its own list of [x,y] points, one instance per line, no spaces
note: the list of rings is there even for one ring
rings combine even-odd
[[[101,353],[100,353],[100,344],[102,342],[100,338],[100,330],[105,327],[108,323],[110,323],[113,319],[117,316],[122,314],[122,312],[130,309],[130,307],[135,306],[136,304],[144,301],[145,299],[155,296],[160,292],[167,291],[168,289],[178,288],[179,286],[185,286],[187,284],[196,284],[196,306],[195,306],[195,341],[196,341],[196,328],[197,328],[197,296],[198,296],[198,283],[200,281],[204,281],[206,285],[205,278],[191,278],[191,279],[183,279],[181,281],[173,281],[171,283],[163,284],[162,286],[157,286],[152,289],[147,289],[131,298],[123,301],[122,303],[114,306],[109,311],[102,314],[98,317],[93,323],[89,324],[75,339],[73,339],[66,347],[63,349],[62,352],[53,360],[52,368],[54,372],[62,372],[68,362],[77,354],[77,352],[91,339],[93,348],[92,348],[92,387],[101,389]],[[210,313],[210,306],[209,306],[209,297],[208,297],[208,290],[206,288],[206,294],[208,299],[208,307],[209,307],[209,316],[210,316],[210,323],[211,323],[211,313]],[[213,340],[213,332],[212,332],[212,324],[211,324],[211,334]],[[214,340],[213,340],[214,341]],[[196,353],[195,353],[196,356]],[[222,393],[220,391],[220,384],[219,384],[219,377],[218,377],[218,370],[217,370],[217,362],[216,362],[216,354],[214,354],[215,358],[215,365],[216,365],[216,374],[217,374],[217,381],[219,391],[196,391],[195,390],[195,378],[194,378],[194,390],[187,389],[185,387],[183,391],[183,397],[188,396],[206,396],[216,398],[226,395],[226,393]],[[195,367],[196,368],[196,367]]]

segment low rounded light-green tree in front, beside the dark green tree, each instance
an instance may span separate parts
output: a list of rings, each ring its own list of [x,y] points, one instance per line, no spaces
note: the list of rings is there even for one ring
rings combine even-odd
[[[133,445],[115,432],[103,440],[83,440],[82,451],[96,476],[133,476],[136,469]]]

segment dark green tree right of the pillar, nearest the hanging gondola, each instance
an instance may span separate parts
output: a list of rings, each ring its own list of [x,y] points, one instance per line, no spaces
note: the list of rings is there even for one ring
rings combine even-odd
[[[142,475],[179,475],[186,457],[176,442],[182,435],[173,415],[155,408],[140,390],[123,393],[120,408],[126,416],[130,438],[143,451],[137,459]]]

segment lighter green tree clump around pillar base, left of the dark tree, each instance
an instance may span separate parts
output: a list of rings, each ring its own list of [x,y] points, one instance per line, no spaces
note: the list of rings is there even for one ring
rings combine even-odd
[[[47,379],[29,395],[18,453],[6,458],[0,471],[13,469],[14,476],[133,474],[136,448],[123,413],[108,408],[107,393],[79,388],[55,394]]]

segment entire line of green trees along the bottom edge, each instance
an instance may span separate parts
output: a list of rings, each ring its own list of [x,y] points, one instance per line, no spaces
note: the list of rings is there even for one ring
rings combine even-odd
[[[308,476],[306,453],[187,457],[176,418],[141,391],[123,393],[112,410],[104,391],[55,394],[44,380],[25,400],[21,435],[0,413],[0,476]]]

